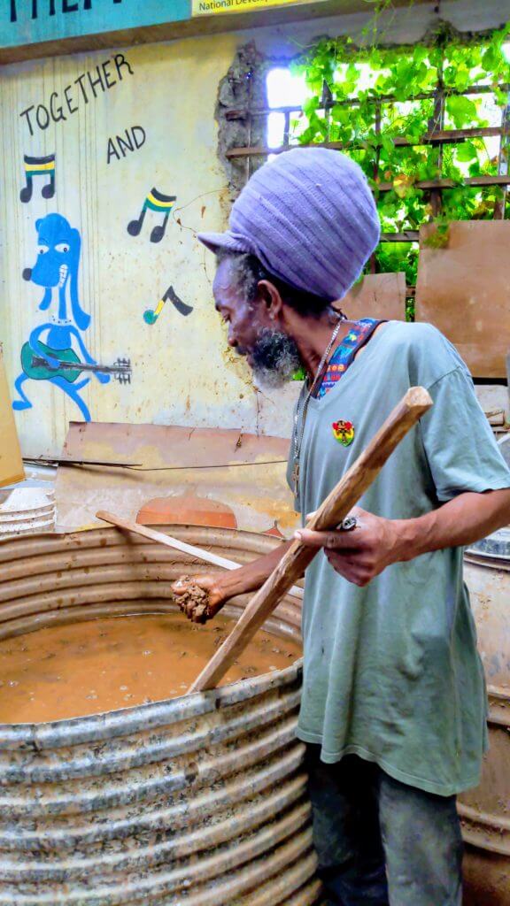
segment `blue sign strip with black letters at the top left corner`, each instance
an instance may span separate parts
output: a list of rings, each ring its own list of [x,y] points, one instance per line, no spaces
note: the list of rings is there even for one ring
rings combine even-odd
[[[191,0],[0,0],[0,48],[191,18]]]

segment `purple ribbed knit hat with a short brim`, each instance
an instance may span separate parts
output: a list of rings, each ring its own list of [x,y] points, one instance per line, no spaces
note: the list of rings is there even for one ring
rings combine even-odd
[[[379,236],[358,164],[331,149],[296,148],[253,174],[226,233],[198,237],[212,252],[256,255],[270,274],[332,302],[356,282]]]

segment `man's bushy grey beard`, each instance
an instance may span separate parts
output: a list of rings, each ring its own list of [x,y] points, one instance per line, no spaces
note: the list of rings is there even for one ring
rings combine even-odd
[[[292,337],[269,327],[260,331],[251,359],[255,383],[266,390],[283,387],[301,366],[298,346]]]

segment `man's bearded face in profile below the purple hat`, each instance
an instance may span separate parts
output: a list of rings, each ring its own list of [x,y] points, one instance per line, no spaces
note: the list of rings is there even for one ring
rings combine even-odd
[[[246,356],[257,384],[280,387],[289,381],[300,365],[298,347],[276,328],[262,299],[247,301],[230,258],[218,265],[212,291],[216,310],[228,324],[230,346]]]

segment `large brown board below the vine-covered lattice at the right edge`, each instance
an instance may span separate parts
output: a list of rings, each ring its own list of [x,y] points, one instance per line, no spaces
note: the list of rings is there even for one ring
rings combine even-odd
[[[431,248],[422,226],[416,320],[454,343],[476,378],[505,378],[510,348],[510,222],[452,223],[445,248]]]

